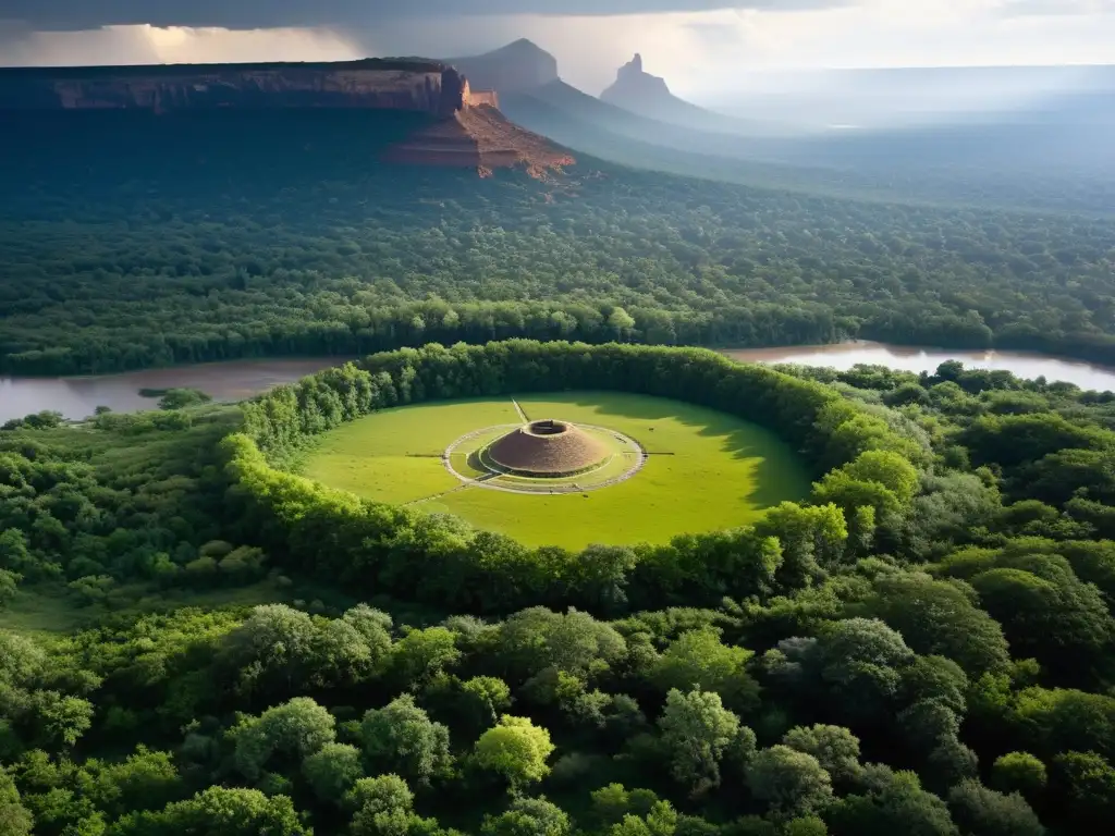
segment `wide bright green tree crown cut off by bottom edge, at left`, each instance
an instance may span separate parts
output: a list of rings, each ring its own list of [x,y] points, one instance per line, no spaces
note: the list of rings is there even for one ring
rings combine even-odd
[[[108,830],[108,836],[312,836],[302,826],[287,796],[268,797],[258,789],[210,787],[186,801],[175,801],[157,813],[132,813]]]

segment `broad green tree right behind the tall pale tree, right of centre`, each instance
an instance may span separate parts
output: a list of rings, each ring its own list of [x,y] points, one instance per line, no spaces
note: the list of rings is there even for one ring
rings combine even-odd
[[[743,713],[759,701],[758,683],[746,670],[753,655],[744,648],[721,643],[718,630],[690,630],[670,642],[651,678],[663,691],[695,688],[715,691],[726,704]]]

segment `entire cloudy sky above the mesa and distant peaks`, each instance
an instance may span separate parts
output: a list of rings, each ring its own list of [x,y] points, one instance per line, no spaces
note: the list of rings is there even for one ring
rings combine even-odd
[[[765,69],[1115,64],[1115,0],[0,0],[0,65],[433,58],[530,38],[597,94]]]

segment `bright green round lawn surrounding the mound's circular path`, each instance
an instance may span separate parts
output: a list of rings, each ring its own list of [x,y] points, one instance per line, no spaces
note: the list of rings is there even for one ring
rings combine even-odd
[[[744,525],[809,489],[805,464],[769,430],[710,409],[619,392],[525,397],[531,419],[610,427],[651,455],[633,478],[588,494],[522,495],[463,486],[440,454],[472,430],[517,422],[511,399],[424,404],[332,430],[302,473],[378,502],[413,503],[531,545],[662,543]],[[459,468],[458,468],[459,469]]]

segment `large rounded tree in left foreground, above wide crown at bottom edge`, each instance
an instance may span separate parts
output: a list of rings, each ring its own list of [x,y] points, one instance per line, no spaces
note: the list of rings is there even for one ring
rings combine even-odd
[[[254,779],[277,755],[301,764],[333,741],[334,726],[328,709],[309,697],[295,697],[259,717],[245,717],[229,732],[235,745],[236,769]]]

